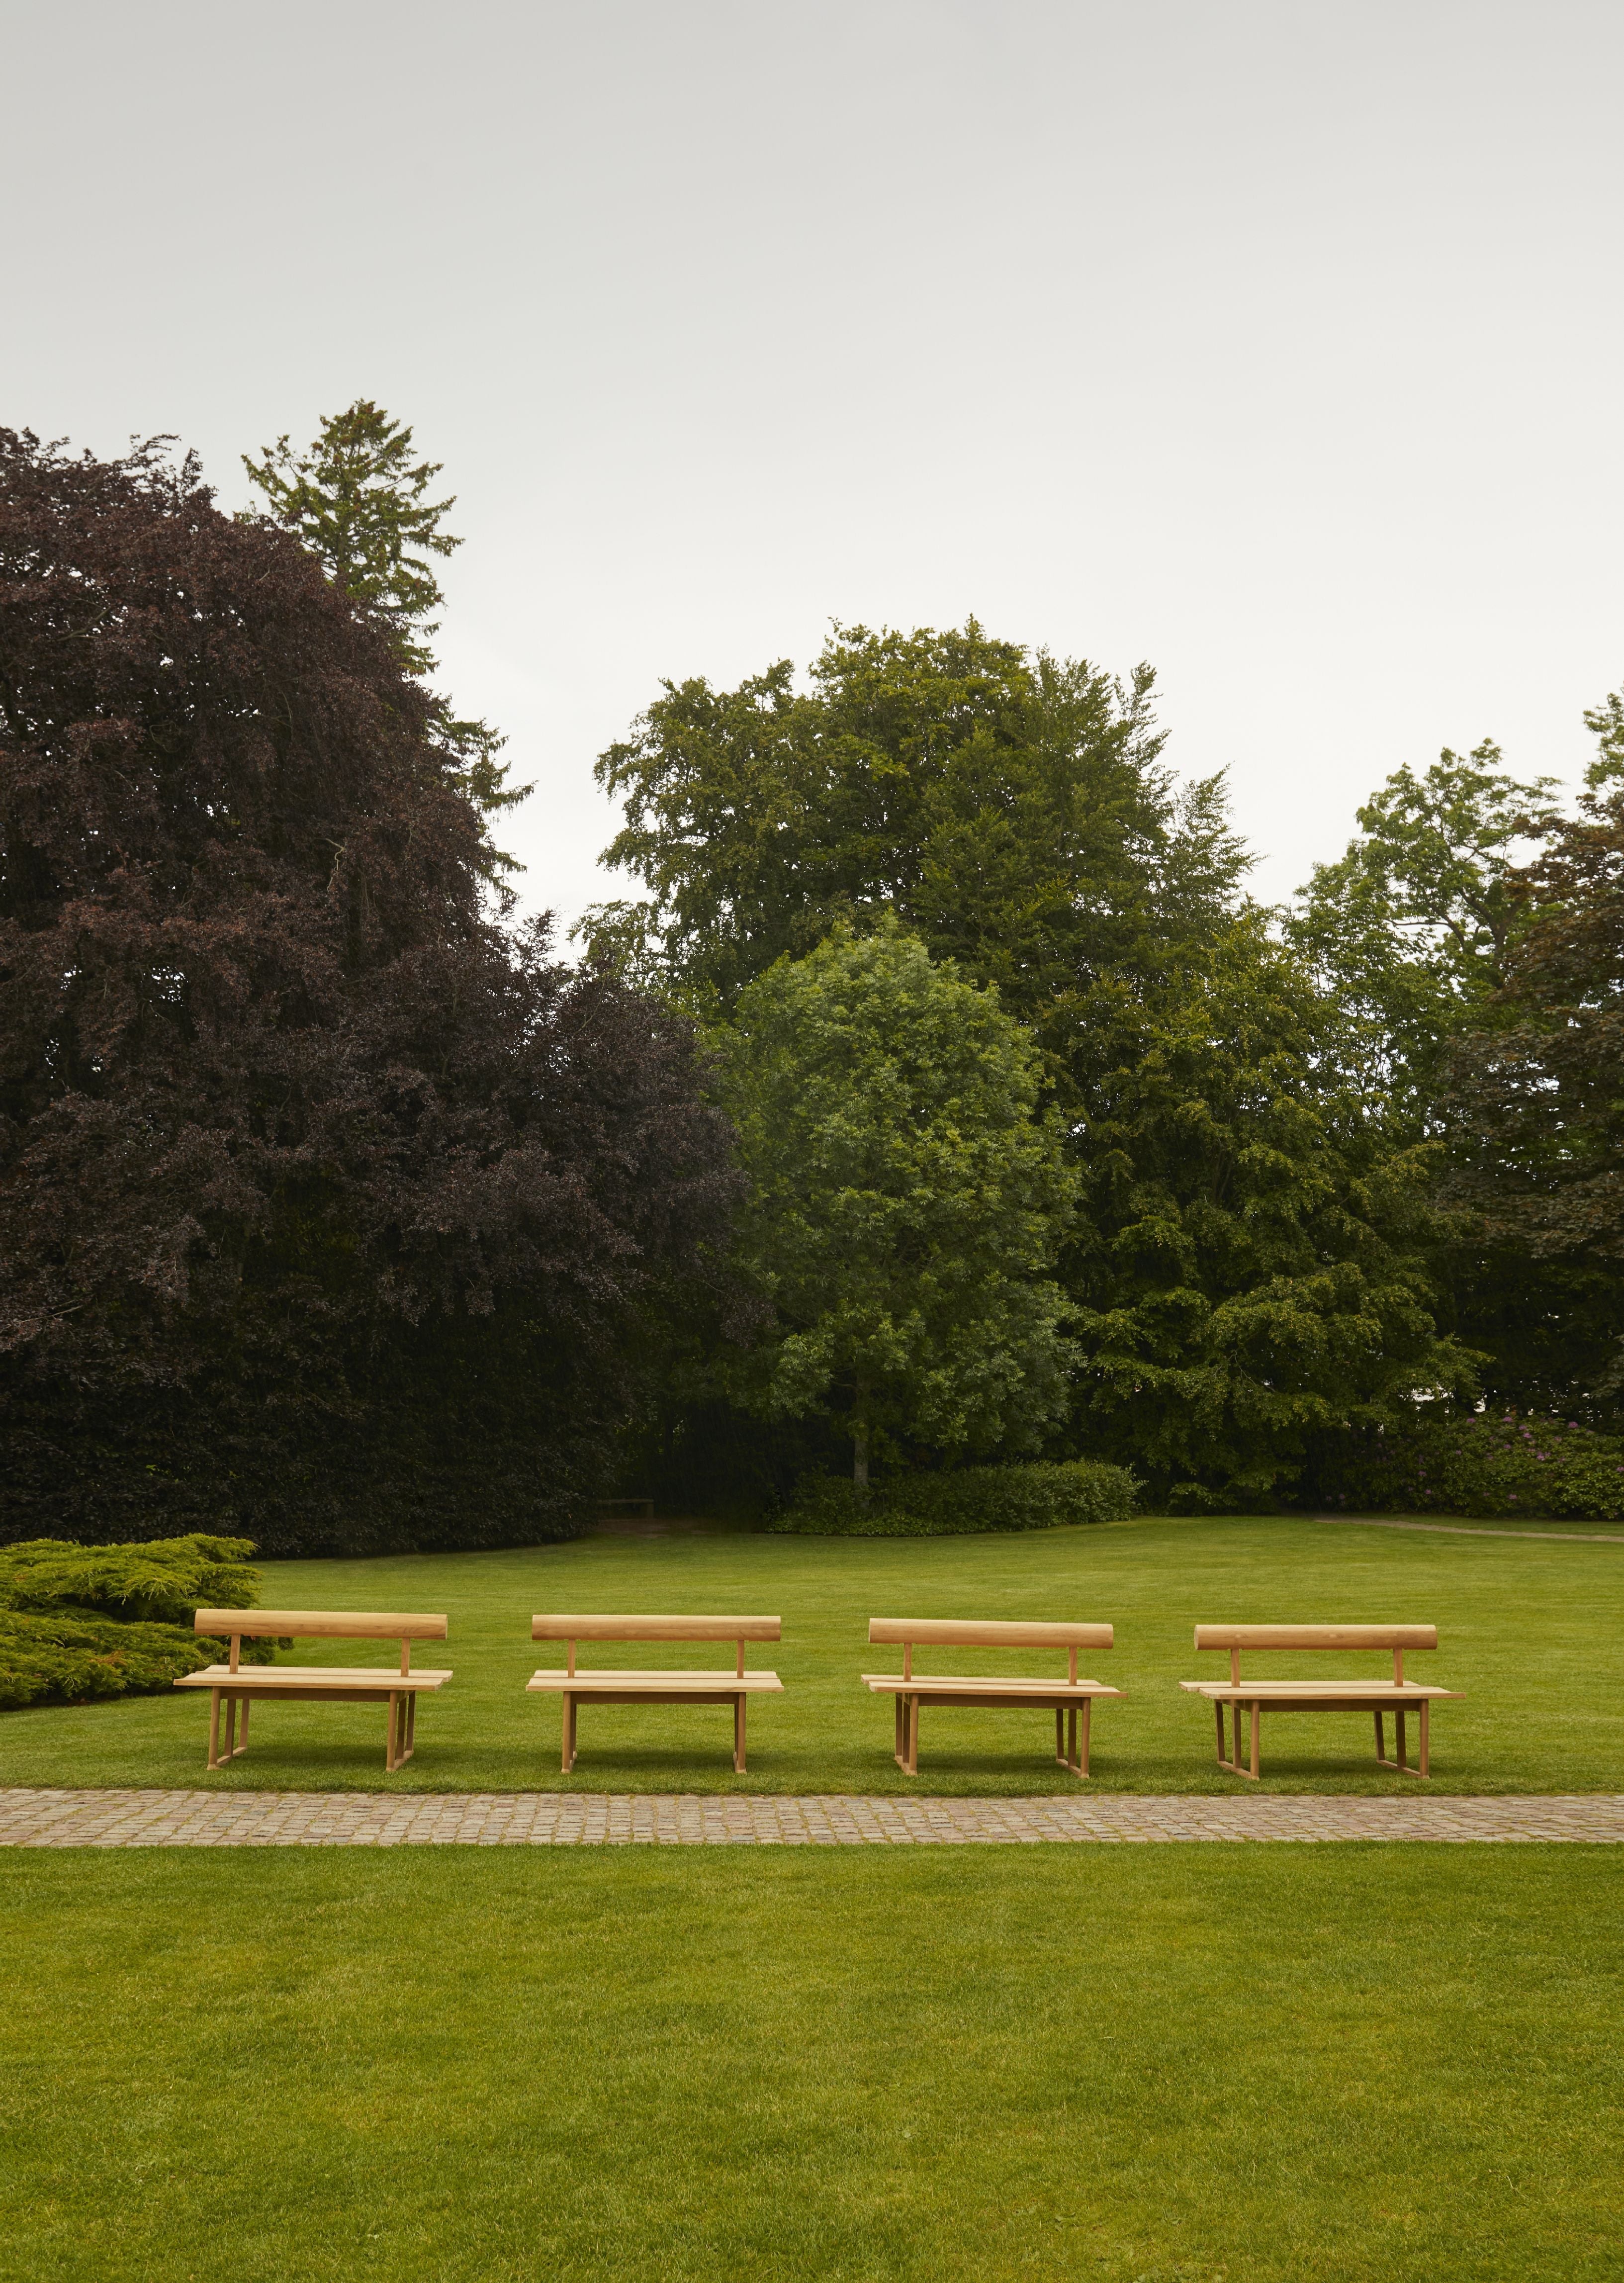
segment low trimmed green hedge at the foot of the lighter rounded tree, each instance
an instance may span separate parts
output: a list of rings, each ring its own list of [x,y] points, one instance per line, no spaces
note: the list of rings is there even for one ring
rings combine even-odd
[[[962,1466],[941,1475],[893,1475],[859,1500],[836,1475],[804,1475],[770,1530],[818,1539],[946,1539],[998,1530],[1062,1530],[1119,1523],[1137,1482],[1126,1466],[1092,1459],[1030,1466]]]

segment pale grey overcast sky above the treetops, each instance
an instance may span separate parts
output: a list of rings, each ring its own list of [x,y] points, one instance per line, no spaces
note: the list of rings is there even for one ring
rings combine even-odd
[[[1624,9],[0,0],[0,420],[445,461],[443,685],[537,781],[831,619],[1126,671],[1265,895],[1624,680]]]

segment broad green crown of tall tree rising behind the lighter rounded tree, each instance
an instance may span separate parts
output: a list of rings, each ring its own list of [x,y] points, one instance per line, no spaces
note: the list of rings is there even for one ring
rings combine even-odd
[[[774,959],[893,911],[936,959],[998,984],[1055,1071],[1103,982],[1213,925],[1245,852],[1222,790],[1179,794],[1153,678],[957,632],[843,628],[795,689],[665,685],[598,779],[626,804],[605,849],[649,886],[596,938],[731,1007]]]

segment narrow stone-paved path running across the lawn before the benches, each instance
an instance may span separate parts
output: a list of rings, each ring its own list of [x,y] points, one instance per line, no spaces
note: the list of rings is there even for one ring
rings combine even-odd
[[[1624,1842],[1624,1794],[863,1799],[699,1792],[0,1790],[0,1847],[941,1847],[1055,1840]]]

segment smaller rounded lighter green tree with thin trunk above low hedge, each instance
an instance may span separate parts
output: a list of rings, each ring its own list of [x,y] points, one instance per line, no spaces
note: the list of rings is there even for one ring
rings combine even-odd
[[[1032,1447],[1067,1406],[1048,1272],[1076,1176],[998,995],[893,920],[838,927],[740,993],[719,1050],[774,1310],[754,1402],[838,1415],[859,1486],[875,1436]]]

